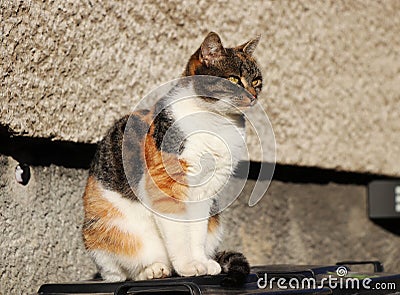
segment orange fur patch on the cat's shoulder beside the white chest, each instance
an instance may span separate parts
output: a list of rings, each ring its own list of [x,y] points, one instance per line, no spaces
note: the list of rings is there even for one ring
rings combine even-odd
[[[181,201],[187,199],[187,164],[174,154],[159,151],[151,136],[153,131],[154,126],[145,139],[146,191],[157,212],[182,213],[185,204]]]

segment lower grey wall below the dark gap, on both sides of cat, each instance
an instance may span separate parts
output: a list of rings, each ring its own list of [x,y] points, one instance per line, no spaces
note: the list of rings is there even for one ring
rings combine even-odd
[[[33,294],[49,282],[89,279],[94,264],[81,239],[87,171],[32,167],[27,186],[14,180],[17,162],[0,156],[0,294]],[[255,207],[251,186],[225,212],[221,249],[243,251],[255,264],[319,264],[379,259],[400,272],[400,237],[368,220],[366,189],[273,181]]]

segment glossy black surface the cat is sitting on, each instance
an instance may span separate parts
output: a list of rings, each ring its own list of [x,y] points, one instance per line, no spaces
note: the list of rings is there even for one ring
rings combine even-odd
[[[349,262],[351,265],[369,262]],[[47,284],[40,287],[43,295],[61,294],[394,294],[400,291],[400,274],[351,272],[349,265],[255,266],[242,288],[221,287],[225,275],[173,277],[151,281],[104,283],[86,281],[70,284]],[[379,262],[372,263],[380,265]],[[378,268],[380,270],[381,268]],[[377,270],[375,268],[375,270]],[[329,282],[328,279],[331,279]],[[346,285],[347,280],[349,284]],[[336,287],[332,286],[336,282]],[[302,285],[304,282],[304,285]],[[342,283],[340,283],[342,282]],[[298,285],[297,285],[298,283]],[[351,284],[350,284],[351,283]],[[380,286],[378,290],[377,287]],[[383,288],[384,287],[384,288]]]

